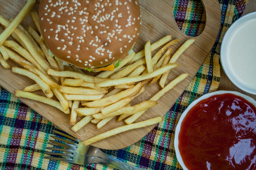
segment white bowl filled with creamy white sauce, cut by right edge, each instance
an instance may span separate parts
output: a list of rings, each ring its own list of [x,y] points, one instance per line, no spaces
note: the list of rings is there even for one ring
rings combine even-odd
[[[256,12],[236,20],[221,42],[221,65],[241,90],[256,95]]]

